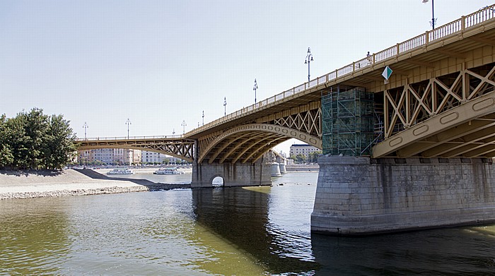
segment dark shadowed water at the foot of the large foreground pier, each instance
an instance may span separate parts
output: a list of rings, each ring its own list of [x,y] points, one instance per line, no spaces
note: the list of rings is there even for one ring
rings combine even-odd
[[[495,227],[491,228],[366,237],[312,234],[311,244],[322,265],[317,275],[495,275]]]

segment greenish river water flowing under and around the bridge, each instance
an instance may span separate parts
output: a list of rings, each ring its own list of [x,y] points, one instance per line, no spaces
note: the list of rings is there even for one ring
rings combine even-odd
[[[495,275],[495,225],[310,234],[317,179],[0,200],[0,275]]]

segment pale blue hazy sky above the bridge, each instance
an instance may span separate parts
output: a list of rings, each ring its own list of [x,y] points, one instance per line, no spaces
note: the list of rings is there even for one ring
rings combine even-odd
[[[436,0],[436,25],[491,4]],[[253,104],[255,79],[258,101],[307,81],[308,47],[313,79],[430,30],[431,13],[431,0],[1,0],[0,114],[62,114],[79,138],[85,122],[88,138],[182,134]]]

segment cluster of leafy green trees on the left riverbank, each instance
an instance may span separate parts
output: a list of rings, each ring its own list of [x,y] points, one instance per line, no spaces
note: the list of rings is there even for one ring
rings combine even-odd
[[[48,116],[42,109],[0,116],[0,168],[61,169],[72,161],[76,139],[62,115]]]

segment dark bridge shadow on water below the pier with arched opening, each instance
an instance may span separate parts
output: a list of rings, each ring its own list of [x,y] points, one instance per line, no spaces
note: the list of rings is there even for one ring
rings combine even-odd
[[[266,187],[269,188],[269,187]],[[268,272],[308,272],[318,264],[279,256],[284,252],[280,237],[267,229],[269,193],[244,188],[192,189],[197,223],[208,227],[241,251],[258,260]]]

